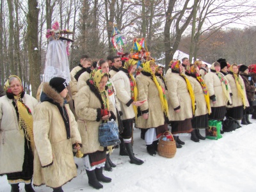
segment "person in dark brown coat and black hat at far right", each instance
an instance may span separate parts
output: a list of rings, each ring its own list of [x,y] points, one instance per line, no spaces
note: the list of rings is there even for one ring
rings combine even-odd
[[[251,111],[251,108],[253,106],[253,100],[254,100],[254,95],[255,95],[255,82],[253,81],[252,77],[249,76],[249,69],[246,65],[241,65],[239,67],[239,74],[240,76],[243,78],[244,81],[244,86],[245,86],[245,90],[246,90],[246,96],[249,102],[249,108],[244,109],[244,119],[242,119],[242,123],[243,125],[247,125],[247,124],[252,124],[249,121],[249,114]]]

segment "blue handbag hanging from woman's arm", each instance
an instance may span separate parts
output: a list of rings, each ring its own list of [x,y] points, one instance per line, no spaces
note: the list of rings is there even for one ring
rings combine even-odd
[[[121,143],[118,136],[118,127],[114,121],[100,124],[99,143],[102,147],[118,145]]]

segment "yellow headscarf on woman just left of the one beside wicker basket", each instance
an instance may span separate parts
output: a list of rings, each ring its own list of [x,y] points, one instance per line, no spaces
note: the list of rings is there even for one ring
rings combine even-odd
[[[124,63],[124,68],[128,70],[128,76],[129,76],[129,79],[130,79],[130,83],[131,83],[131,98],[132,100],[134,100],[135,102],[138,100],[138,88],[137,88],[137,85],[136,85],[136,81],[134,79],[134,76],[132,76],[130,74],[130,71],[131,71],[131,68],[134,66],[134,65],[137,65],[138,61],[136,60],[128,60],[128,61],[125,61]],[[137,109],[137,106],[134,106],[132,105],[133,107],[133,110],[134,110],[134,113],[135,113],[135,118],[137,119],[137,115],[138,115],[138,109]]]

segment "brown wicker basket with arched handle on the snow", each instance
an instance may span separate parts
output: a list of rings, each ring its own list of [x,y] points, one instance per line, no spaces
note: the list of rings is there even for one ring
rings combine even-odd
[[[168,132],[170,135],[172,135],[172,133],[170,131],[166,131],[166,132]],[[177,150],[176,143],[175,143],[173,136],[172,136],[173,141],[162,140],[162,138],[164,137],[164,134],[166,132],[164,132],[163,135],[159,139],[157,152],[158,152],[159,156],[166,157],[166,158],[172,158],[176,154],[176,150]]]

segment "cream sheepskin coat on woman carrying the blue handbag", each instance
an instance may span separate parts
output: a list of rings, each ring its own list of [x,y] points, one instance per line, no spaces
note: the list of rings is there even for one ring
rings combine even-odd
[[[78,117],[78,129],[83,144],[81,152],[83,152],[83,154],[91,154],[93,152],[104,150],[104,147],[101,147],[99,143],[99,126],[102,123],[100,111],[102,109],[103,101],[95,86],[90,84],[89,80],[87,80],[86,83],[87,85],[83,86],[77,93],[75,109]],[[105,92],[107,92],[107,90],[108,87],[106,87]],[[108,97],[108,93],[106,93],[106,95]],[[110,119],[113,118],[115,120],[113,104],[110,101],[109,111],[111,111]]]

